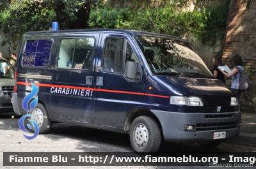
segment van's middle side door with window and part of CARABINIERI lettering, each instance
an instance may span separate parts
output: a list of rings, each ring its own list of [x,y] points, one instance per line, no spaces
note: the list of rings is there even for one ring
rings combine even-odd
[[[52,70],[51,116],[92,123],[93,53],[99,34],[61,36]]]

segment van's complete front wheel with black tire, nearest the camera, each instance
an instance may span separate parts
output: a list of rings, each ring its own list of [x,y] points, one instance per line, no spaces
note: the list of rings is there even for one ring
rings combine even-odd
[[[157,152],[161,144],[161,129],[156,120],[148,116],[134,119],[130,130],[132,149],[138,154]]]

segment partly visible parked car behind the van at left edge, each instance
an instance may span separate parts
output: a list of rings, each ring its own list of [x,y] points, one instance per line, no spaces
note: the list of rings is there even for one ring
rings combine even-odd
[[[10,66],[8,71],[6,71],[7,66]],[[7,59],[0,57],[0,113],[13,112],[13,86],[14,69]]]

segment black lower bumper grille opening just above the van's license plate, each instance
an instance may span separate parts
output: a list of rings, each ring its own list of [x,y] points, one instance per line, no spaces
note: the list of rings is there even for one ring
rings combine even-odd
[[[217,129],[233,129],[236,128],[238,121],[234,122],[212,122],[212,123],[198,123],[196,124],[196,131],[207,131]]]

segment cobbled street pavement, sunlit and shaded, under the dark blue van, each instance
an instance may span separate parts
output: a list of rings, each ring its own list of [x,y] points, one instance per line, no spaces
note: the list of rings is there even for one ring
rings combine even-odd
[[[14,115],[14,118],[12,116]],[[205,166],[3,166],[3,152],[129,152],[129,135],[84,128],[70,124],[54,125],[47,135],[27,140],[19,129],[20,116],[0,114],[0,168],[209,168]],[[159,152],[207,152],[198,144],[163,142]],[[214,152],[255,152],[256,147],[223,142]],[[211,168],[211,167],[210,167]]]

